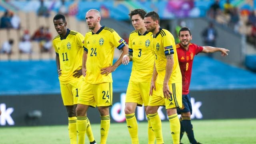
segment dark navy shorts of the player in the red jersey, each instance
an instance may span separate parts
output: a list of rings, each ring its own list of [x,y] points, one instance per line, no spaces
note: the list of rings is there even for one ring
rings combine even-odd
[[[192,114],[192,105],[189,94],[182,94],[182,108],[177,108],[177,113],[190,112]]]

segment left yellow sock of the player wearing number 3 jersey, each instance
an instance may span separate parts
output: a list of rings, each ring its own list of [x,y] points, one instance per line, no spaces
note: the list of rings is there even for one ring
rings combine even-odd
[[[128,131],[130,133],[130,137],[132,138],[132,144],[139,144],[138,138],[138,124],[135,117],[135,114],[126,114],[126,123],[128,127]]]

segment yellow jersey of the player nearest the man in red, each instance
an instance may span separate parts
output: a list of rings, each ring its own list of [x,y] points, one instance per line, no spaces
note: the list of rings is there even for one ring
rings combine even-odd
[[[180,66],[178,62],[178,55],[176,51],[176,44],[173,35],[165,29],[160,28],[160,31],[154,37],[154,52],[156,54],[156,71],[158,76],[156,82],[158,84],[164,83],[164,76],[166,71],[166,55],[173,54],[174,65],[172,74],[168,84],[182,82]]]

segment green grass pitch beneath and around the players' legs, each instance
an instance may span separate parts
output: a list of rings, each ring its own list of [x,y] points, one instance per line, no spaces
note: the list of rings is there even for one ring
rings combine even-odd
[[[256,144],[256,119],[192,120],[196,140],[203,144]],[[162,122],[165,144],[172,144],[168,121]],[[147,123],[139,122],[140,144],[147,144]],[[100,142],[100,124],[92,124]],[[189,144],[186,134],[182,138]],[[0,144],[69,144],[67,126],[0,127]],[[89,144],[86,138],[86,144]],[[107,144],[131,144],[126,123],[112,123]]]

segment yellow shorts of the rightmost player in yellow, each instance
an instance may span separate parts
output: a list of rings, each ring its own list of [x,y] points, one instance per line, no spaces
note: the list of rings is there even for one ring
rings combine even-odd
[[[166,109],[182,107],[182,82],[169,84],[169,89],[172,95],[170,99],[166,99],[163,85],[156,83],[156,90],[149,96],[148,106],[165,106]]]

